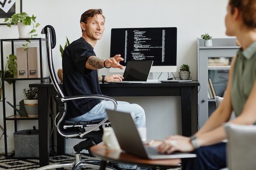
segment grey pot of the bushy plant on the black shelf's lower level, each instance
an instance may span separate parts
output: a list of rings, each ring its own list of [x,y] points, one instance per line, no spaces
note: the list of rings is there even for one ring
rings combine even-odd
[[[38,117],[38,99],[24,99],[24,106],[28,117]]]

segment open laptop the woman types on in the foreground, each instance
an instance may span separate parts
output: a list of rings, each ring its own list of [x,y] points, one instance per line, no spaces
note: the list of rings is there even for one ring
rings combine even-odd
[[[106,111],[122,150],[145,159],[196,157],[195,154],[190,152],[173,152],[171,154],[158,153],[156,147],[145,146],[143,144],[137,127],[132,119],[132,114],[107,109]]]

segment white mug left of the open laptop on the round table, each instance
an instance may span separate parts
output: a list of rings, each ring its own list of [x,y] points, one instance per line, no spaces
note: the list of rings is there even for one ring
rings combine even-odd
[[[108,149],[115,149],[115,150],[121,149],[112,127],[103,129],[102,141],[106,144]]]

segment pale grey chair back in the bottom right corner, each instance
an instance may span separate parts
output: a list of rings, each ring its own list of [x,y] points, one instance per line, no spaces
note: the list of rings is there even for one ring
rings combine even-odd
[[[229,170],[255,170],[256,126],[227,123],[224,127]]]

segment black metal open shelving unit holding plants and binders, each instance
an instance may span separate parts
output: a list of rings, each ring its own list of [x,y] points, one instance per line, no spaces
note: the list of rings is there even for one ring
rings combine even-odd
[[[4,66],[6,64],[6,61],[4,60],[6,56],[9,56],[9,54],[16,55],[16,47],[22,47],[22,44],[26,42],[26,40],[29,39],[1,39],[1,69],[2,69],[2,77],[4,77]],[[19,101],[16,101],[16,83],[20,81],[26,81],[26,80],[37,80],[40,82],[44,82],[45,79],[49,79],[49,74],[46,72],[47,68],[45,68],[46,64],[46,50],[45,50],[45,39],[43,38],[33,38],[30,40],[31,43],[29,44],[29,47],[38,47],[38,55],[35,55],[34,57],[37,57],[37,64],[38,66],[38,74],[40,71],[40,74],[38,77],[34,78],[8,78],[8,80],[13,81],[12,89],[13,89],[13,105],[16,105]],[[18,57],[18,56],[17,56]],[[19,64],[17,62],[17,64]],[[4,81],[7,79],[2,78],[2,109],[3,109],[3,120],[4,120],[4,148],[5,148],[5,157],[8,158],[8,150],[7,150],[7,121],[13,120],[14,122],[14,130],[17,131],[17,120],[36,120],[38,117],[23,117],[16,113],[16,110],[13,109],[12,113],[6,113],[6,101],[8,99],[9,92],[5,91],[4,88]],[[49,79],[50,80],[50,79]],[[28,85],[26,86],[28,87]],[[17,91],[22,91],[22,89],[18,89]],[[7,95],[6,95],[7,94]],[[9,98],[10,99],[10,98]],[[19,122],[20,123],[20,122]],[[13,158],[13,157],[12,157]]]

